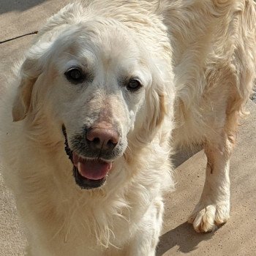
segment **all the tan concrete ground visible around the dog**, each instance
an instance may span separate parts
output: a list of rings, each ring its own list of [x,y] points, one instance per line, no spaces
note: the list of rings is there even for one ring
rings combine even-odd
[[[67,1],[1,0],[0,41],[39,29],[45,19]],[[34,35],[0,44],[1,85],[11,74]],[[165,196],[165,221],[157,256],[169,255],[256,255],[256,105],[249,102],[251,115],[242,121],[238,145],[231,160],[231,218],[214,233],[197,234],[186,220],[203,189],[206,157],[203,151],[186,160],[179,154],[175,171],[176,192]],[[0,124],[1,125],[1,124]],[[179,164],[178,164],[179,163]],[[26,240],[18,221],[15,203],[0,175],[0,255],[23,255]]]

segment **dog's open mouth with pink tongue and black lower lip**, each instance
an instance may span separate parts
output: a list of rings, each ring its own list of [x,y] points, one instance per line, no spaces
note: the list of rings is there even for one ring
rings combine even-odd
[[[94,189],[102,186],[112,167],[112,162],[102,159],[85,159],[72,153],[73,172],[76,183],[82,189]]]

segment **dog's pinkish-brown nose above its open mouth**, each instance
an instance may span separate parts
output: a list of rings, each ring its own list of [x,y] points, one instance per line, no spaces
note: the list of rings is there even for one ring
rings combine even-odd
[[[86,139],[92,149],[112,150],[119,140],[115,129],[95,127],[86,132]]]

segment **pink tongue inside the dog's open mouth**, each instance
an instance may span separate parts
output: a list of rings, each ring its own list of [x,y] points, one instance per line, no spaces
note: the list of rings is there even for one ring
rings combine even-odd
[[[110,162],[99,159],[81,159],[75,153],[73,153],[73,162],[81,176],[95,181],[104,178],[112,167]]]

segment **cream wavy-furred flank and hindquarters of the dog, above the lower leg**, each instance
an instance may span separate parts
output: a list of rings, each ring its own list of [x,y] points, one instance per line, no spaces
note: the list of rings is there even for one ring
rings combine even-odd
[[[214,137],[226,114],[236,127],[233,113],[244,113],[255,79],[255,2],[172,1],[165,24],[176,75],[176,143]]]

